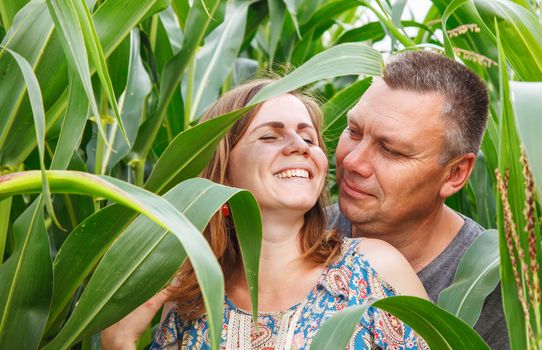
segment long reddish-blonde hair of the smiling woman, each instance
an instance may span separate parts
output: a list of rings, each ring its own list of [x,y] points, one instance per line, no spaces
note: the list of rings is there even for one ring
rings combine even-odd
[[[273,81],[269,79],[255,80],[234,88],[209,108],[201,118],[201,122],[245,107],[258,91]],[[318,103],[314,98],[299,91],[290,92],[290,94],[299,98],[309,111],[317,131],[318,143],[324,149],[325,146],[321,136],[322,112]],[[261,104],[252,108],[244,117],[235,122],[227,135],[218,144],[209,165],[201,174],[202,177],[220,184],[231,183],[228,168],[230,152],[246,132],[260,106]],[[305,223],[299,236],[303,257],[318,264],[328,263],[335,258],[340,248],[340,238],[336,231],[326,231],[326,204],[327,192],[322,191],[314,207],[305,213]],[[211,218],[203,234],[213,249],[222,267],[224,279],[228,283],[235,269],[242,263],[231,217],[224,217],[221,212],[218,212]],[[196,275],[188,260],[179,269],[175,281],[174,284],[168,287],[168,292],[171,299],[177,302],[181,317],[185,320],[200,317],[205,312],[203,298]]]

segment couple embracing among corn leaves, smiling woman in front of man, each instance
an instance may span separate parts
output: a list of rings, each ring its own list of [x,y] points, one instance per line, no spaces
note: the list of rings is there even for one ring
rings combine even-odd
[[[241,85],[202,120],[244,107],[271,81]],[[348,112],[336,150],[338,204],[328,206],[327,155],[318,104],[291,92],[253,108],[220,142],[202,173],[250,190],[262,214],[258,333],[232,218],[212,218],[204,235],[226,282],[221,348],[308,349],[333,313],[373,298],[414,295],[436,301],[462,255],[483,231],[444,204],[468,181],[484,133],[482,81],[444,56],[395,56]],[[164,305],[152,349],[207,349],[208,324],[188,262],[175,282],[102,333],[104,349],[134,349]],[[500,288],[475,329],[508,348]],[[370,308],[351,349],[423,349],[414,331]]]

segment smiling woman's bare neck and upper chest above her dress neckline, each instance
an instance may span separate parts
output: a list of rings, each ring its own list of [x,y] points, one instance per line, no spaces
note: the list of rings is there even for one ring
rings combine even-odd
[[[262,212],[262,249],[258,276],[260,311],[282,311],[301,301],[316,284],[323,266],[302,258],[299,234],[304,218],[277,217]],[[250,310],[242,266],[226,286],[240,308]]]

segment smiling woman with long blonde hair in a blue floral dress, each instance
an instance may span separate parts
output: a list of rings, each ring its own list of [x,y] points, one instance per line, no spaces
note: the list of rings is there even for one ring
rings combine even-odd
[[[204,120],[245,106],[269,83],[256,81],[228,92]],[[262,214],[257,332],[228,213],[217,214],[205,231],[226,281],[222,348],[305,349],[319,326],[345,307],[394,294],[427,298],[393,247],[371,239],[341,241],[325,230],[327,158],[320,121],[318,105],[301,93],[270,99],[235,123],[203,172],[215,182],[250,190]],[[104,331],[104,348],[133,348],[152,315],[170,299],[151,348],[207,349],[208,324],[190,264],[181,267],[176,280]],[[419,341],[395,317],[371,308],[350,347],[416,349]]]

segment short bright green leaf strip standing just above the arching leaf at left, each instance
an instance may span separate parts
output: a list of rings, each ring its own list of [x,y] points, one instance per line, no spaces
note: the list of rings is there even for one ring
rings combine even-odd
[[[70,164],[73,152],[81,141],[87,121],[88,100],[81,81],[71,73],[68,108],[62,123],[60,138],[56,144],[51,170],[65,170]]]

